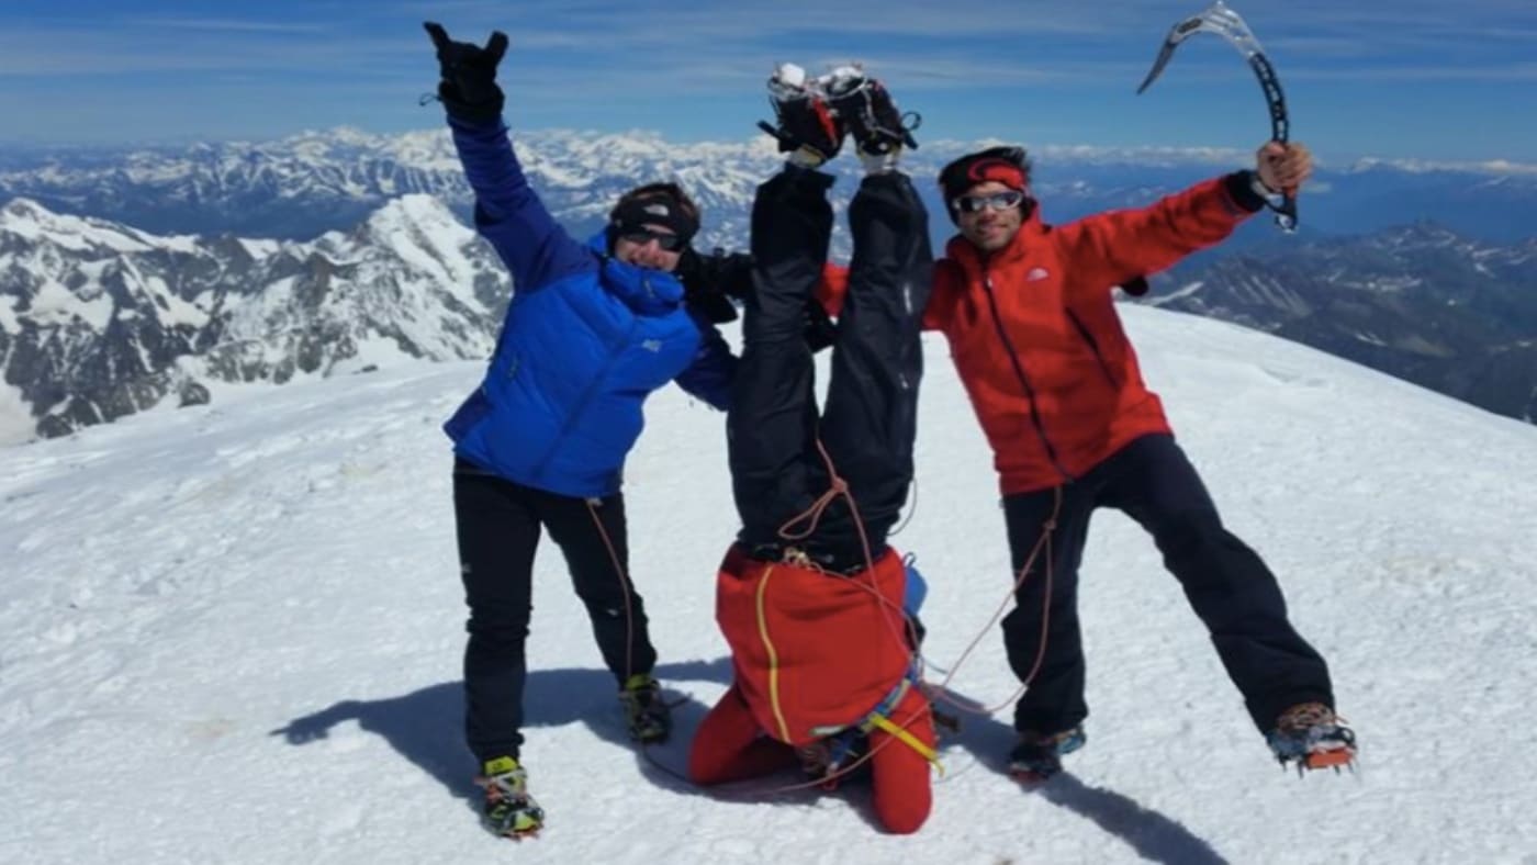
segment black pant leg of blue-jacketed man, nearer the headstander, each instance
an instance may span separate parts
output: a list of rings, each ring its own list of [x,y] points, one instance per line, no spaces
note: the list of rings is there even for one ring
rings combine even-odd
[[[646,602],[630,581],[624,493],[592,501],[541,492],[539,519],[566,555],[603,662],[621,685],[635,673],[650,673],[656,648]]]

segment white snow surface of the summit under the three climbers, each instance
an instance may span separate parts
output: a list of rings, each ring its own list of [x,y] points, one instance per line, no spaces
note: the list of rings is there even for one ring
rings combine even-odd
[[[715,565],[735,532],[722,416],[670,389],[629,466],[632,567],[684,702],[638,753],[546,545],[530,638],[536,840],[493,839],[461,745],[449,447],[476,363],[303,381],[0,449],[5,862],[1532,862],[1537,429],[1320,352],[1122,315],[1237,535],[1330,659],[1360,771],[1280,771],[1125,518],[1082,573],[1088,747],[1024,791],[1007,710],[944,742],[934,813],[868,794],[705,793],[670,771],[722,693]],[[916,513],[925,653],[985,705],[1008,552],[990,456],[928,344]],[[255,393],[255,392],[252,392]],[[655,762],[653,762],[655,761]],[[666,767],[666,768],[662,768]]]

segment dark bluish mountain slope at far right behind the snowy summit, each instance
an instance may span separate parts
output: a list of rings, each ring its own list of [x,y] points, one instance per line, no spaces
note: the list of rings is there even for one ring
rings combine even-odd
[[[1537,423],[1537,238],[1434,223],[1180,266],[1147,303],[1237,321]]]

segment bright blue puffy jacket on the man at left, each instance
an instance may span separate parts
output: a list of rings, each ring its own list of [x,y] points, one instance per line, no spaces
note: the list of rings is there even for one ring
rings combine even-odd
[[[676,379],[724,410],[736,358],[673,275],[609,258],[603,235],[583,246],[555,223],[506,126],[449,128],[475,227],[512,272],[513,297],[484,381],[443,429],[458,456],[510,481],[618,492],[646,396]]]

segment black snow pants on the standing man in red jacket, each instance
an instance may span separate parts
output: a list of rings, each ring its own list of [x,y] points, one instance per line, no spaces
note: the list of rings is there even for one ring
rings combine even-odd
[[[1125,512],[1153,535],[1164,567],[1207,625],[1228,678],[1262,733],[1299,702],[1334,705],[1328,667],[1286,621],[1286,601],[1276,578],[1222,525],[1200,476],[1173,436],[1142,436],[1071,484],[1004,498],[1016,576],[1057,509],[1057,495],[1050,607],[1042,607],[1045,561],[1037,559],[1016,592],[1017,607],[1002,622],[1010,667],[1025,681],[1042,655],[1042,619],[1048,619],[1041,670],[1014,707],[1017,730],[1059,733],[1088,716],[1077,568],[1090,516],[1099,507]]]

